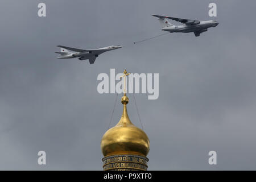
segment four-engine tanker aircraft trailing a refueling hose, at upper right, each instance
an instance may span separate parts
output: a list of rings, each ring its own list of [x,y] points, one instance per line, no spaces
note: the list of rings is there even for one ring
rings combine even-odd
[[[216,27],[218,22],[215,20],[208,21],[200,21],[200,20],[192,20],[192,19],[182,19],[182,18],[174,18],[171,16],[160,16],[160,15],[152,15],[159,18],[160,23],[162,24],[162,30],[168,32],[194,32],[195,36],[200,36],[201,33],[206,32],[210,27]],[[184,23],[184,25],[176,26],[171,24],[168,19],[175,20],[180,23]]]

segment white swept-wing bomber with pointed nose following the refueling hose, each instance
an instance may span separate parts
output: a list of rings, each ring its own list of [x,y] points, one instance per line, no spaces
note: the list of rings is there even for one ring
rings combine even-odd
[[[122,46],[108,46],[108,47],[102,47],[98,49],[77,49],[72,47],[66,47],[66,46],[57,46],[60,47],[59,53],[60,57],[57,57],[57,59],[70,59],[79,57],[79,60],[86,60],[89,59],[89,63],[93,64],[98,55],[101,53],[104,53],[106,51],[111,51],[114,49],[122,48]],[[70,52],[73,51],[73,52]]]

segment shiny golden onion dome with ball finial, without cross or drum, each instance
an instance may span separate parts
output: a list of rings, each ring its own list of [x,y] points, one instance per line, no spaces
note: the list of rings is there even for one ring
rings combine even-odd
[[[123,114],[120,121],[106,131],[101,139],[101,151],[104,156],[135,154],[146,156],[150,150],[150,141],[143,130],[131,123],[126,105],[129,98],[126,94],[121,100],[123,104]]]

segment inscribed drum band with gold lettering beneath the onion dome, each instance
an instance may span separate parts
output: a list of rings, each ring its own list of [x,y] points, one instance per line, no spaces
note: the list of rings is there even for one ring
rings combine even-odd
[[[102,162],[104,171],[146,171],[148,159],[139,155],[113,155]]]

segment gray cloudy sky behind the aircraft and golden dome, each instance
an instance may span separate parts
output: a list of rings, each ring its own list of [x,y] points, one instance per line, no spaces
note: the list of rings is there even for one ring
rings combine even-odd
[[[39,2],[46,18],[37,15]],[[208,16],[210,2],[216,18]],[[159,73],[158,100],[135,94],[151,142],[148,169],[256,169],[255,8],[238,0],[2,0],[0,169],[102,170],[100,141],[115,94],[98,94],[97,75],[110,68]],[[220,24],[197,38],[170,34],[134,45],[163,33],[152,14]],[[125,47],[92,65],[54,53],[57,45],[118,44]],[[129,116],[140,126],[129,97]],[[120,99],[111,126],[121,117]],[[40,150],[46,166],[37,164]]]

